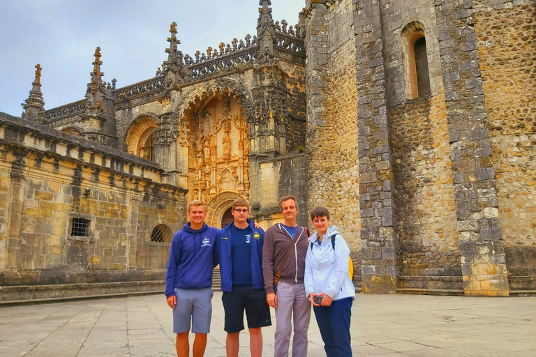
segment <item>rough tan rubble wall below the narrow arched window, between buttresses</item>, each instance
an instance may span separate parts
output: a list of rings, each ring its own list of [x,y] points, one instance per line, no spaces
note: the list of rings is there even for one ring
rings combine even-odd
[[[461,278],[456,202],[445,97],[420,98],[390,110],[396,211],[402,244],[401,287],[452,289],[411,282],[413,275]],[[424,283],[426,282],[426,284]]]

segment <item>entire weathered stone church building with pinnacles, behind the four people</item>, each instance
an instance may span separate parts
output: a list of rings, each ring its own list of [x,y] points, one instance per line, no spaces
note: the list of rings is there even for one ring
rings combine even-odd
[[[536,3],[307,0],[156,76],[0,116],[0,299],[160,289],[202,199],[264,227],[327,206],[365,293],[536,291]],[[105,54],[104,54],[105,55]]]

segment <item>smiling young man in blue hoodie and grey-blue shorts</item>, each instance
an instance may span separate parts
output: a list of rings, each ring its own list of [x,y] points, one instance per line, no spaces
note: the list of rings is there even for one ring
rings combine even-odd
[[[165,296],[173,309],[177,356],[188,357],[190,323],[195,333],[193,357],[202,357],[212,315],[212,270],[218,265],[214,249],[218,229],[204,223],[207,212],[201,201],[188,204],[188,219],[174,234],[165,278]]]

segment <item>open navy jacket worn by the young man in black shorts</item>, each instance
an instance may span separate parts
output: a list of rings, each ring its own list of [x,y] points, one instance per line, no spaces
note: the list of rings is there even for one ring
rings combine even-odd
[[[256,229],[252,220],[248,220],[251,229],[251,283],[253,289],[264,289],[265,280],[262,278],[262,245],[265,243],[265,231]],[[231,225],[220,229],[216,235],[216,247],[220,259],[221,291],[231,291],[232,288],[232,257],[231,257]]]

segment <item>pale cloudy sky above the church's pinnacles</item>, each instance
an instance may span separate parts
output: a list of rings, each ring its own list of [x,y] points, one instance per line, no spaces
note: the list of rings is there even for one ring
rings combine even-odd
[[[298,22],[305,0],[271,0],[274,21]],[[177,22],[179,50],[256,34],[258,0],[0,0],[0,112],[20,116],[37,63],[45,109],[84,98],[101,47],[103,80],[154,77]]]

